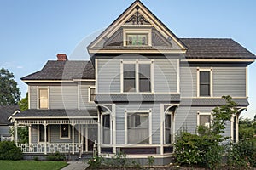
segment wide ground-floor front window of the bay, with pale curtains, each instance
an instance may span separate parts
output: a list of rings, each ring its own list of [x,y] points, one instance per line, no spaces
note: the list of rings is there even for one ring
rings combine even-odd
[[[128,144],[148,144],[148,113],[127,115]]]

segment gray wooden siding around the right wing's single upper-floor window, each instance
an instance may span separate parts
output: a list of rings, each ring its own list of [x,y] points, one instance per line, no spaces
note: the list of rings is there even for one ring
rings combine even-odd
[[[180,87],[182,98],[196,97],[197,67],[181,66]],[[246,68],[212,66],[212,88],[213,97],[221,97],[223,95],[246,97]]]

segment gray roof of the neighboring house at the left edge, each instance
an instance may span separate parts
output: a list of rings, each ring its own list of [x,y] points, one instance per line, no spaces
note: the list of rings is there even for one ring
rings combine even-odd
[[[0,125],[9,125],[9,116],[19,110],[19,105],[0,105]]]

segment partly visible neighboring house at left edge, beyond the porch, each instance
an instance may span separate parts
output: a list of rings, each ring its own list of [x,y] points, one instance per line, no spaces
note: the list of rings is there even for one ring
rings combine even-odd
[[[9,122],[9,117],[19,111],[18,105],[0,105],[0,141],[12,140],[10,127],[12,124]]]

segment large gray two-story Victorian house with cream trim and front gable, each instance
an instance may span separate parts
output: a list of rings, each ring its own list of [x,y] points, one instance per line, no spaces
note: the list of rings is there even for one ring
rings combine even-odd
[[[84,47],[86,48],[86,47]],[[136,1],[87,47],[91,61],[58,54],[28,84],[29,110],[12,116],[29,126],[25,153],[79,156],[119,151],[141,163],[171,161],[175,134],[211,124],[223,95],[247,108],[247,66],[255,55],[232,39],[178,38]],[[238,140],[238,115],[224,135]],[[17,137],[15,135],[15,142]]]

